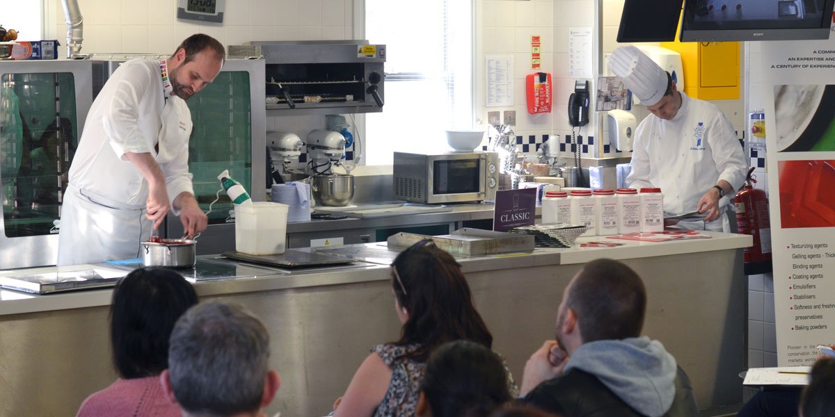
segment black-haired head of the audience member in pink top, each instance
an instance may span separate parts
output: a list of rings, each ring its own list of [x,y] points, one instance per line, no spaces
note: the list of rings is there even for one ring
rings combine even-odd
[[[122,378],[154,376],[168,368],[171,330],[195,304],[195,289],[170,269],[136,269],[119,280],[110,306],[110,342]]]

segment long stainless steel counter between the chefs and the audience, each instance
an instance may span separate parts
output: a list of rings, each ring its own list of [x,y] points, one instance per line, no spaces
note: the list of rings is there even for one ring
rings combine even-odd
[[[626,242],[615,249],[575,246],[457,258],[493,333],[493,347],[517,379],[529,355],[553,336],[562,291],[582,264],[623,259],[645,280],[645,334],[676,356],[701,408],[711,408],[741,401],[736,374],[744,368],[746,281],[739,248],[751,244],[750,236],[712,235],[665,244]],[[192,277],[200,298],[243,304],[270,330],[271,367],[282,384],[267,414],[326,414],[368,349],[397,339],[400,324],[392,311],[387,266],[397,251],[382,244],[345,249],[362,254],[362,262],[293,271],[200,257],[200,264],[235,274],[234,279]],[[111,293],[0,291],[0,414],[72,415],[87,395],[113,381]]]

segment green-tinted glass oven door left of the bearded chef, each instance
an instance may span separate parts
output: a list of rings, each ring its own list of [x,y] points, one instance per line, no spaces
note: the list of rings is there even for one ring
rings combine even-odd
[[[0,75],[0,176],[8,237],[50,234],[78,146],[72,73]]]

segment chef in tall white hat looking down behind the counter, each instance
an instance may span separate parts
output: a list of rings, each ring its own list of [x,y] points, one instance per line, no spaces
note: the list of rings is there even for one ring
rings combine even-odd
[[[635,130],[626,183],[661,188],[665,225],[729,232],[725,210],[747,168],[731,122],[713,103],[678,91],[634,46],[615,49],[609,69],[651,113]]]

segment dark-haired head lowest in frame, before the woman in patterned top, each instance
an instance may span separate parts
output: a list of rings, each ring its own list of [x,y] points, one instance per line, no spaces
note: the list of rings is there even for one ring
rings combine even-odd
[[[510,401],[502,358],[481,344],[457,340],[426,363],[417,417],[487,417]]]

